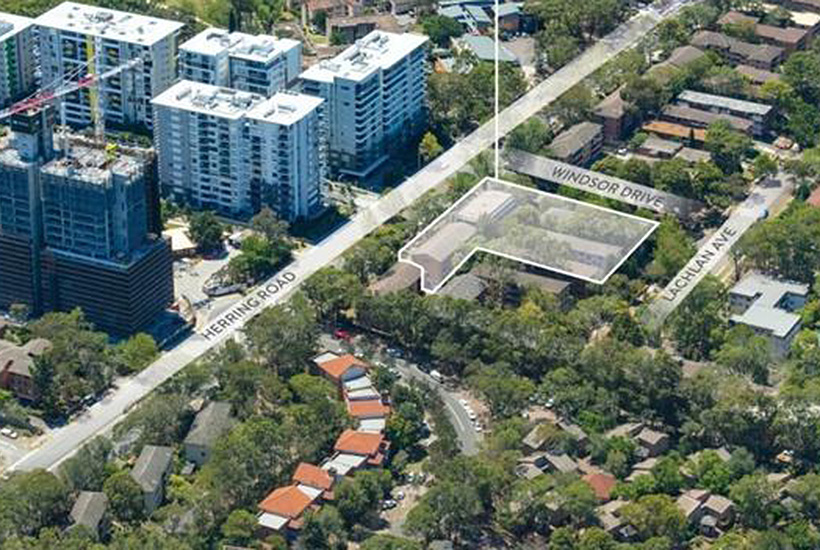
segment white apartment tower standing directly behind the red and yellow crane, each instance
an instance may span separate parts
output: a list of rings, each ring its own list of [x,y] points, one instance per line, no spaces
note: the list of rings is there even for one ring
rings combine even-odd
[[[105,121],[120,127],[152,127],[151,99],[176,80],[177,35],[182,23],[63,2],[35,20],[42,82],[79,80],[133,59],[143,62],[61,100],[66,122],[86,126],[92,96],[99,95]]]

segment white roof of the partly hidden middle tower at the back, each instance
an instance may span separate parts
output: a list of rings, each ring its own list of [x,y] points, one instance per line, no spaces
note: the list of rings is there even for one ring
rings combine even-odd
[[[201,55],[217,55],[227,50],[234,57],[265,62],[299,47],[299,44],[297,40],[276,38],[267,34],[252,35],[228,32],[224,29],[205,29],[182,44],[179,49]]]

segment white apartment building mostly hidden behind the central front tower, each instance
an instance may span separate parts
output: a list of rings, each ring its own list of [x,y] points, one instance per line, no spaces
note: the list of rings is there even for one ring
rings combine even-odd
[[[206,29],[179,47],[183,80],[271,97],[302,68],[302,43],[289,38]]]

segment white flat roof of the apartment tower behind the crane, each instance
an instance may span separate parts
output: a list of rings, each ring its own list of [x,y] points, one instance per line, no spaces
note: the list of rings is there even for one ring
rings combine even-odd
[[[42,27],[150,46],[179,31],[178,21],[63,2],[35,19]]]

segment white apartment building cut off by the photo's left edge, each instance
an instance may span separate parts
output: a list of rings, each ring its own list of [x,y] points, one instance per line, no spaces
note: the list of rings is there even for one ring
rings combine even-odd
[[[34,20],[0,13],[0,107],[34,87]]]

